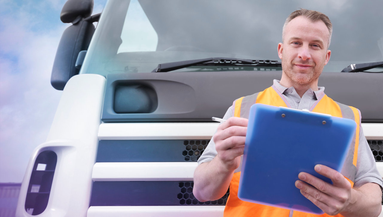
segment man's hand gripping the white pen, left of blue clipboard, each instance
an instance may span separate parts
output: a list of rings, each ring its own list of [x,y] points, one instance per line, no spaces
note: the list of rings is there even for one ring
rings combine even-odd
[[[246,118],[231,117],[218,126],[213,136],[218,160],[228,171],[234,171],[241,163],[241,155],[245,147]]]

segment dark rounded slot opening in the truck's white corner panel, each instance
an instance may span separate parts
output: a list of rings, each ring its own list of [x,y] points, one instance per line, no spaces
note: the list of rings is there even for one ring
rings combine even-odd
[[[57,155],[53,151],[43,151],[37,156],[25,199],[28,214],[39,215],[47,207],[56,163]]]

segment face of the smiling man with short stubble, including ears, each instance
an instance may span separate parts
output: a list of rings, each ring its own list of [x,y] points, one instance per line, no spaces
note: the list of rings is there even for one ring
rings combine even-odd
[[[293,84],[309,85],[318,81],[330,59],[327,50],[329,30],[322,21],[312,23],[298,16],[285,27],[283,44],[278,44],[283,74]]]

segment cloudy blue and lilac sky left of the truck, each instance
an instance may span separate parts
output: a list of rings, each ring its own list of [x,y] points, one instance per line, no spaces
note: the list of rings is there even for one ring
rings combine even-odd
[[[21,182],[62,94],[51,86],[65,0],[0,0],[0,182]],[[106,0],[94,0],[92,14]]]

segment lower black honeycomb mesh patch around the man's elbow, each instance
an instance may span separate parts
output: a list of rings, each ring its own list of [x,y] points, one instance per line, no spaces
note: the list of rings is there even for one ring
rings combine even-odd
[[[177,198],[181,205],[226,205],[226,201],[229,197],[229,189],[226,194],[216,201],[200,202],[193,195],[194,182],[179,182],[180,193],[177,194]]]

